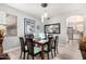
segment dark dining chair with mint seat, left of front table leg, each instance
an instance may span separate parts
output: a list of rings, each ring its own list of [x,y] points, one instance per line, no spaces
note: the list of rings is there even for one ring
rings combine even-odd
[[[27,49],[28,49],[28,57],[29,55],[33,57],[41,53],[41,49],[35,44],[34,35],[28,35],[27,40]],[[41,54],[40,54],[41,55]]]

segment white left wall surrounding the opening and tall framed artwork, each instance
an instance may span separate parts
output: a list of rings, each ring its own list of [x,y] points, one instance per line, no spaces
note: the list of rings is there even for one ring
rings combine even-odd
[[[4,11],[5,13],[17,16],[17,36],[4,37],[3,50],[9,50],[9,49],[20,46],[19,37],[24,36],[24,17],[34,20],[36,22],[36,25],[38,25],[37,23],[39,23],[39,21],[36,20],[35,17],[32,17],[28,14],[25,14],[25,13],[17,11],[15,9],[12,9],[10,7],[5,7],[3,4],[0,4],[0,11]],[[35,27],[35,31],[37,33],[36,27]]]

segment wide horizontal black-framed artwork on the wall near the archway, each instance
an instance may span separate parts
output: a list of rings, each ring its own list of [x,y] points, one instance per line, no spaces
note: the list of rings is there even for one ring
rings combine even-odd
[[[46,34],[60,34],[60,23],[45,25]]]

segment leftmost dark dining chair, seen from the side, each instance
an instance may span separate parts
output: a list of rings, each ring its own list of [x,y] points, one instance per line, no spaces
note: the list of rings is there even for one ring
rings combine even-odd
[[[21,42],[21,55],[20,55],[20,59],[22,57],[22,53],[23,53],[23,59],[25,59],[25,54],[26,54],[26,52],[28,52],[28,50],[27,50],[27,47],[25,46],[23,37],[20,37],[20,42]]]

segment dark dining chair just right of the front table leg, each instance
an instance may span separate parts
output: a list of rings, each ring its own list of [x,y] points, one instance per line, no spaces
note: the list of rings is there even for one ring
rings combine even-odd
[[[44,51],[47,53],[47,57],[49,60],[49,52],[51,52],[51,56],[53,57],[53,53],[52,53],[52,43],[53,43],[53,37],[48,37],[48,42],[44,48]]]

